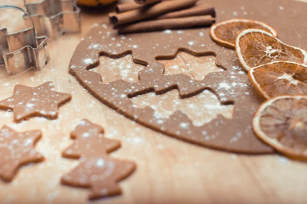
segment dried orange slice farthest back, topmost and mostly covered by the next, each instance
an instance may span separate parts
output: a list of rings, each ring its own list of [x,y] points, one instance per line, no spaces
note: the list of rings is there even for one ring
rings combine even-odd
[[[234,49],[236,36],[245,29],[261,29],[277,37],[276,31],[264,22],[237,18],[213,24],[210,36],[215,42]]]

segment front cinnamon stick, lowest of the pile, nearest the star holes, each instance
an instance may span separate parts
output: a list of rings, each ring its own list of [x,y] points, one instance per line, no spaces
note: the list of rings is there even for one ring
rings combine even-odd
[[[118,33],[142,33],[151,31],[163,31],[166,29],[205,27],[212,25],[214,22],[215,18],[213,18],[211,15],[149,20],[129,25],[120,25],[118,27]]]

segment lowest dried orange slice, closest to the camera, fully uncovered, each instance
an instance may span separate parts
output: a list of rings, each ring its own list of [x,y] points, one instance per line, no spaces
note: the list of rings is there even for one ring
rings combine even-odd
[[[281,154],[307,159],[307,96],[282,95],[265,101],[255,113],[253,130]]]

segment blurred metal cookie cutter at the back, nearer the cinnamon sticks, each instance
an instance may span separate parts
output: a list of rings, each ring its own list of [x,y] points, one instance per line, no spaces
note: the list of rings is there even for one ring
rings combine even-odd
[[[42,0],[37,3],[26,3],[27,12],[32,17],[38,36],[59,38],[63,33],[81,31],[80,8],[73,0]],[[28,16],[24,16],[27,25]]]

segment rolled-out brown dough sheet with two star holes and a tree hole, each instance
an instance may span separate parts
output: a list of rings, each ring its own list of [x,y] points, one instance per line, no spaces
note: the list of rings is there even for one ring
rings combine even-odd
[[[307,5],[304,3],[288,0],[204,2],[216,8],[217,22],[231,18],[259,20],[271,25],[283,42],[307,48]],[[216,65],[225,71],[209,73],[202,81],[193,80],[185,74],[164,75],[164,65],[157,59],[174,58],[179,51],[194,56],[215,55]],[[140,81],[137,83],[118,80],[102,84],[101,75],[90,70],[99,64],[99,56],[120,58],[127,54],[133,55],[135,63],[148,65],[139,72]],[[152,130],[225,151],[246,154],[274,152],[259,141],[252,131],[252,117],[261,100],[246,71],[240,66],[234,50],[212,41],[209,28],[118,35],[106,17],[80,42],[69,70],[103,104]],[[172,89],[178,89],[180,97],[193,96],[209,89],[222,104],[234,103],[233,118],[218,116],[196,127],[179,111],[169,118],[157,118],[151,108],[139,109],[129,99],[147,92],[162,94]]]

